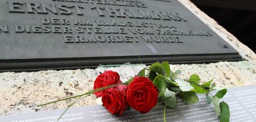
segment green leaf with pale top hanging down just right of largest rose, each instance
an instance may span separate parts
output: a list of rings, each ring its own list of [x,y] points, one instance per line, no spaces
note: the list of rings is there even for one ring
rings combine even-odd
[[[170,90],[166,89],[166,91],[164,92],[164,96],[162,96],[161,98],[162,98],[164,104],[166,104],[166,106],[168,106],[170,108],[175,108],[175,106],[177,104],[177,99],[176,99],[174,91],[170,91]]]

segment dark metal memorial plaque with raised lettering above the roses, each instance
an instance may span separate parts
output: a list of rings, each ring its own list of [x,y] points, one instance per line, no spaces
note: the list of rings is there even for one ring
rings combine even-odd
[[[241,60],[179,1],[0,1],[0,71]]]

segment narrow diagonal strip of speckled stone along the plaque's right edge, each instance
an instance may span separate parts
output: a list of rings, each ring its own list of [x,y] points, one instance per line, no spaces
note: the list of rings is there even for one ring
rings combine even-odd
[[[214,19],[210,18],[205,12],[201,11],[196,5],[189,0],[178,0],[181,2],[189,11],[200,18],[208,27],[216,32],[222,39],[229,43],[234,49],[236,49],[242,58],[250,62],[256,62],[256,54],[251,51],[246,45],[242,44],[232,33],[228,32],[225,28],[220,26]]]

